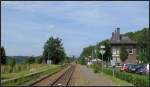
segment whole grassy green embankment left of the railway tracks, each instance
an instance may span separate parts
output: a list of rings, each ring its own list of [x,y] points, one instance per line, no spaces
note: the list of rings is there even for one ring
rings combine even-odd
[[[1,84],[5,86],[30,85],[39,78],[43,78],[44,76],[52,75],[58,72],[64,66],[32,64],[29,67],[30,68],[21,70],[20,72],[1,73]]]

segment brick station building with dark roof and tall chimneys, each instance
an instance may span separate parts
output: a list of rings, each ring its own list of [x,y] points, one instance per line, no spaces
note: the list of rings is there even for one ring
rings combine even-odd
[[[112,47],[112,61],[114,61],[117,65],[124,63],[137,63],[136,61],[137,43],[131,40],[129,37],[121,35],[120,28],[117,28],[115,32],[112,32],[112,37],[110,41]],[[120,60],[121,46],[125,46],[126,50],[128,51],[128,58],[124,62]]]

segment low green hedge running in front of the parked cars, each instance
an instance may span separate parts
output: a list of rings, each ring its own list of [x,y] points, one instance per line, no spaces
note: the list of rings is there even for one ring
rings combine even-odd
[[[112,70],[108,68],[104,68],[103,72],[109,75],[113,75]],[[132,83],[135,86],[149,86],[149,76],[141,76],[138,74],[115,71],[115,77]]]

